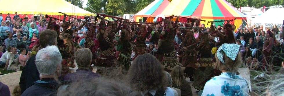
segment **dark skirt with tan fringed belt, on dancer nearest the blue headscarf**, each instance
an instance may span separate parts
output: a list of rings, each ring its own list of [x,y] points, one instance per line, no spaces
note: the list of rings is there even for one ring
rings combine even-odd
[[[205,83],[214,77],[212,58],[199,58],[195,65],[200,67],[195,69],[192,86],[197,90],[203,90]]]

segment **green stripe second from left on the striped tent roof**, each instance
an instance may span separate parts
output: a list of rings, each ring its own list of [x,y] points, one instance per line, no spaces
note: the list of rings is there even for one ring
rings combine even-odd
[[[181,13],[182,16],[190,16],[193,14],[195,9],[198,7],[201,0],[190,0],[190,2],[187,4],[183,12]]]

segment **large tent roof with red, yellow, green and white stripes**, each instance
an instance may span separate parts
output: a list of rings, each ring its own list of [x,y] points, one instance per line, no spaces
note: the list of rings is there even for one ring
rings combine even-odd
[[[207,21],[231,20],[236,18],[231,23],[238,27],[239,24],[242,24],[246,20],[244,14],[236,10],[236,8],[225,0],[155,0],[135,14],[134,19],[138,21],[143,18],[143,21],[153,22],[153,19],[158,15],[168,17],[172,14],[206,20],[206,22],[201,21],[205,26],[209,26],[206,25]],[[181,22],[187,22],[186,19],[183,19],[184,21],[181,19]],[[222,23],[214,24],[222,26]]]

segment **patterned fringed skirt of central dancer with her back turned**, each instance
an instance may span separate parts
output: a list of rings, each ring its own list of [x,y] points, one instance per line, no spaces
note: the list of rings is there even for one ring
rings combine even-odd
[[[174,66],[179,65],[182,66],[181,63],[179,63],[179,60],[176,57],[176,51],[173,50],[170,53],[165,53],[164,54],[164,59],[161,62],[163,67],[165,68],[165,71],[171,72]]]

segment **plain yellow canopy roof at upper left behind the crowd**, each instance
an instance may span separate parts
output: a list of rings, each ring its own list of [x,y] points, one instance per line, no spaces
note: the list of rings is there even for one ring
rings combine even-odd
[[[65,0],[0,0],[0,12],[3,14],[48,14],[85,16],[95,14],[79,8]]]

